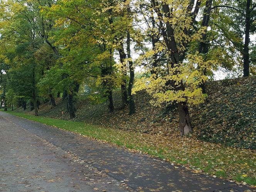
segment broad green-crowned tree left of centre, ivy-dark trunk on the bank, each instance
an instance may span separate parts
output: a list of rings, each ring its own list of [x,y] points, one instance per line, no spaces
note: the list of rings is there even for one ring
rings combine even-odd
[[[97,85],[101,87],[99,94],[108,99],[109,110],[113,111],[112,93],[115,87],[121,85],[121,78],[114,67],[113,42],[116,34],[113,34],[115,13],[111,11],[111,1],[59,1],[57,5],[47,10],[47,17],[57,19],[61,29],[57,33],[63,32],[61,36],[54,36],[57,44],[66,47],[61,50],[63,57],[60,61],[63,68],[65,65],[74,66],[72,68],[75,71],[68,76],[79,77],[73,78],[76,81],[83,81],[88,76],[97,78]]]

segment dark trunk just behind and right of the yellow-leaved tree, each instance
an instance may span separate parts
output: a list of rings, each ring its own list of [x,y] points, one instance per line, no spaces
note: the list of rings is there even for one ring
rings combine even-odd
[[[199,43],[199,53],[207,54],[209,51],[209,42],[207,42],[207,27],[209,26],[210,14],[212,8],[212,0],[207,0],[204,8],[204,17],[202,21],[202,27],[206,27],[204,34],[202,35],[202,40]],[[202,70],[203,74],[206,75],[207,69],[202,66],[198,66],[200,70]],[[206,93],[205,82],[200,84],[200,88],[202,89],[202,93]]]

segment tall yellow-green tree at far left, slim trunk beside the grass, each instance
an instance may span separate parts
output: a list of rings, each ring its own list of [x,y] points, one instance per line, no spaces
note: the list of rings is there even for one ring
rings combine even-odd
[[[25,75],[24,71],[19,72],[19,69],[26,69],[31,72],[29,84],[32,89],[29,90],[31,91],[29,96],[34,103],[35,116],[37,116],[38,111],[36,106],[38,96],[36,84],[38,75],[40,74],[38,73],[38,69],[41,66],[37,66],[34,54],[39,49],[42,41],[40,35],[37,34],[39,31],[39,9],[33,3],[33,1],[13,2],[12,0],[3,3],[5,15],[8,15],[8,17],[6,16],[1,22],[3,26],[1,35],[3,42],[13,47],[8,54],[10,66],[15,69],[17,74]],[[30,67],[30,69],[26,67]],[[24,82],[16,81],[16,83],[17,86],[23,86],[22,83]],[[15,91],[15,88],[13,90]],[[24,90],[20,91],[26,92]]]

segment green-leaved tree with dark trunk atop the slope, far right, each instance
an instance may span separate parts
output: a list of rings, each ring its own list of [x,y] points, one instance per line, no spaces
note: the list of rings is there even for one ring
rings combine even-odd
[[[253,71],[250,61],[250,35],[256,32],[256,2],[254,0],[223,1],[212,7],[221,10],[216,26],[228,41],[231,41],[243,57],[243,76]],[[241,25],[242,24],[242,25]]]

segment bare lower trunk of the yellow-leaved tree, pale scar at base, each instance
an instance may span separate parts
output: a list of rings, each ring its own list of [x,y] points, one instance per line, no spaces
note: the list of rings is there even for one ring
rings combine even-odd
[[[180,135],[188,135],[192,133],[192,125],[189,116],[189,109],[185,103],[178,103],[179,108],[179,126],[180,126]]]

